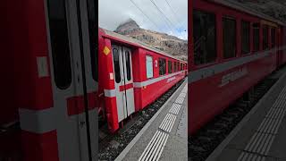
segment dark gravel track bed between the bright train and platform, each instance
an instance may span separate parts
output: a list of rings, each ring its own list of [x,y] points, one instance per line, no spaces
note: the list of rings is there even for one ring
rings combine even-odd
[[[122,150],[130,143],[139,131],[146,125],[154,114],[164,105],[169,97],[181,86],[185,79],[179,81],[176,85],[159,97],[154,103],[147,106],[144,110],[134,114],[128,123],[115,134],[108,134],[106,125],[99,129],[99,160],[114,160]]]

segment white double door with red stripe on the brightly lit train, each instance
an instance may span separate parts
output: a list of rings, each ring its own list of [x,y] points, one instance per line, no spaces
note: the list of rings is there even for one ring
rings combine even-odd
[[[131,50],[113,45],[118,123],[135,112]]]

